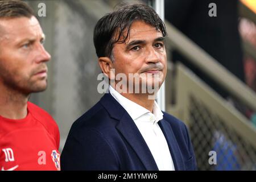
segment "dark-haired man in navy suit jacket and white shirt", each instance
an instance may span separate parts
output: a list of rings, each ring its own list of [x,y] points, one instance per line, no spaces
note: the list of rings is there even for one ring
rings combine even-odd
[[[94,46],[109,93],[73,123],[61,169],[196,169],[187,127],[152,99],[166,77],[165,36],[162,20],[142,4],[119,7],[97,22]]]

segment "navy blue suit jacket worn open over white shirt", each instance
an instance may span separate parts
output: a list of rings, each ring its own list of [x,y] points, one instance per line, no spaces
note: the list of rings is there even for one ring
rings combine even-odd
[[[175,170],[196,169],[184,123],[164,113],[159,125]],[[133,119],[109,93],[73,123],[60,163],[62,170],[158,170]]]

